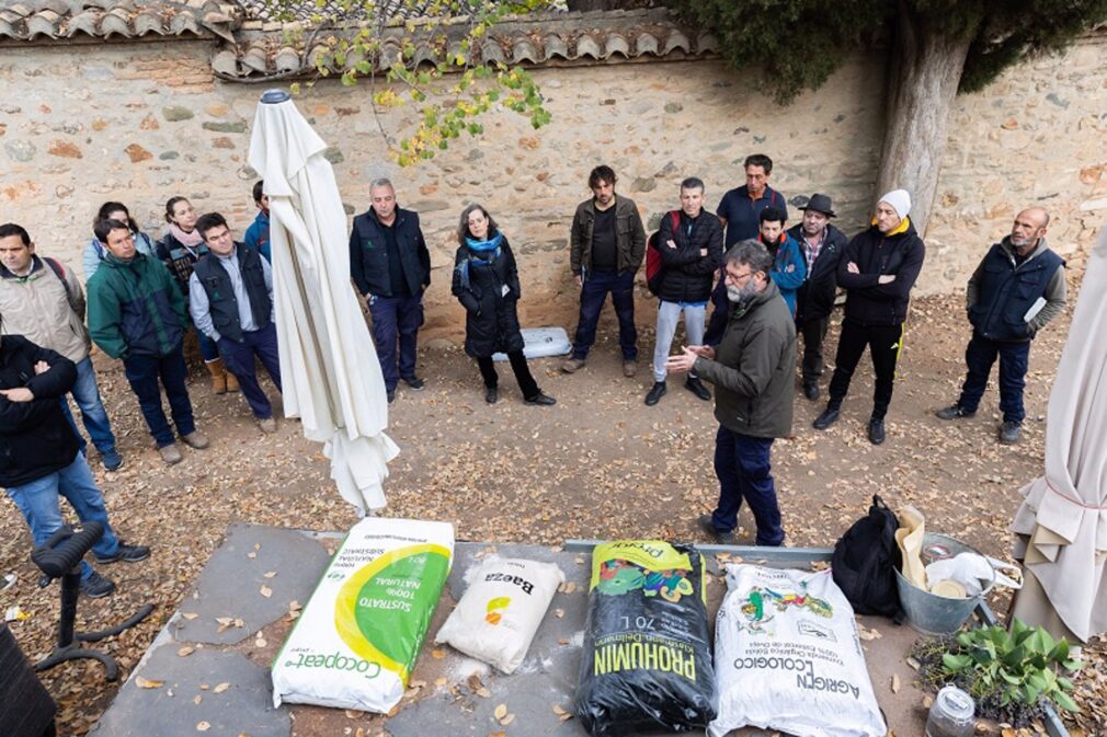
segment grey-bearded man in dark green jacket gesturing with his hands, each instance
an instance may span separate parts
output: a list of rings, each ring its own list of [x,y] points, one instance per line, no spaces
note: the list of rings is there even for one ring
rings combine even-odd
[[[742,501],[757,522],[757,544],[784,542],[769,453],[792,433],[796,324],[769,277],[773,257],[755,240],[726,252],[724,271],[731,315],[718,347],[685,346],[669,371],[695,371],[715,385],[715,475],[718,506],[700,525],[720,542],[734,542]]]

